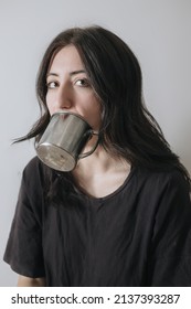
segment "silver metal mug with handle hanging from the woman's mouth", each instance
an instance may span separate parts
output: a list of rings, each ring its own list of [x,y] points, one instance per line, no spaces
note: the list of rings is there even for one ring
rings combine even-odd
[[[87,141],[94,136],[97,141],[91,151],[82,153]],[[57,171],[72,171],[78,159],[92,154],[98,145],[98,132],[77,114],[57,111],[35,147],[40,160]]]

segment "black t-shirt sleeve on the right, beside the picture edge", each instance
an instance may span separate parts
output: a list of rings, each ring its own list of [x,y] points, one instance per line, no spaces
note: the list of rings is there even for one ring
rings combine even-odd
[[[159,201],[150,256],[150,286],[191,287],[191,202],[179,173],[168,181]]]

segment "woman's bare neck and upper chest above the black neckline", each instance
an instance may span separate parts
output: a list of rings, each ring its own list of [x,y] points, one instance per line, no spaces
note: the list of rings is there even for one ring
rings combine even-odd
[[[130,172],[125,159],[114,158],[102,146],[88,157],[79,159],[73,170],[78,189],[94,198],[103,198],[117,190]]]

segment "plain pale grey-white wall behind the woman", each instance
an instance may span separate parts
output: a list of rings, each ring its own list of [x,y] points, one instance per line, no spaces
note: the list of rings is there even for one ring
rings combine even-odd
[[[60,31],[93,23],[116,32],[137,54],[147,106],[191,172],[190,0],[0,0],[0,286],[17,280],[2,255],[22,169],[35,152],[32,142],[11,141],[39,116],[41,56]]]

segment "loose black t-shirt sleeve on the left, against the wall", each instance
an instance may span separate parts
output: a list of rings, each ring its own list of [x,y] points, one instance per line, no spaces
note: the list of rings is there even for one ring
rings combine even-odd
[[[23,171],[17,209],[3,256],[11,268],[26,277],[43,277],[42,199],[34,177],[35,160]]]

